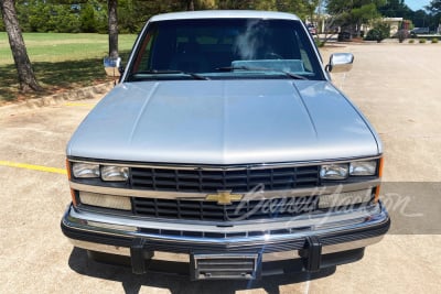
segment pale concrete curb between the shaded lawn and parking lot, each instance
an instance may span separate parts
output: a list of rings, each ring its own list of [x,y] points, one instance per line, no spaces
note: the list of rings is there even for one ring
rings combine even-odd
[[[0,107],[0,115],[2,117],[11,116],[14,113],[26,112],[43,107],[63,105],[66,101],[92,99],[95,98],[97,95],[105,95],[112,87],[114,81],[108,81],[95,86],[80,88],[77,90],[58,92],[42,98],[28,99],[23,102]]]

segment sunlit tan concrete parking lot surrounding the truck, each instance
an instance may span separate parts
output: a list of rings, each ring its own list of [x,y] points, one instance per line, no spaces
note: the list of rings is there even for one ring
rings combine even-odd
[[[0,293],[441,293],[441,44],[346,44],[323,48],[325,61],[332,52],[355,55],[353,70],[333,79],[379,132],[384,181],[404,183],[413,189],[410,206],[418,203],[407,207],[417,220],[392,209],[394,229],[362,261],[252,283],[135,275],[89,261],[60,220],[71,199],[64,149],[95,95],[0,108]]]

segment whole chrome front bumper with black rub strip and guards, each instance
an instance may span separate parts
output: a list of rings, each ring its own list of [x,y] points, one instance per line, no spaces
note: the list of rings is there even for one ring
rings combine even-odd
[[[381,203],[325,216],[302,216],[288,221],[247,222],[228,227],[116,217],[79,211],[72,206],[62,219],[63,232],[75,247],[127,255],[132,260],[133,255],[139,259],[142,255],[151,257],[153,252],[155,259],[172,261],[189,261],[194,253],[257,253],[262,262],[306,259],[303,270],[311,271],[323,268],[320,264],[322,255],[378,242],[389,226],[390,219]],[[223,238],[213,238],[219,235]],[[319,264],[308,263],[308,259],[312,260],[311,252],[320,255],[314,257]],[[342,260],[335,263],[346,262]],[[142,269],[133,271],[142,272]]]

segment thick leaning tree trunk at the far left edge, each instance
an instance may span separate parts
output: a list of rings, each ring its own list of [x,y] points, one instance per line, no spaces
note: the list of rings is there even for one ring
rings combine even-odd
[[[20,90],[22,92],[42,90],[36,81],[28,56],[26,46],[17,18],[14,0],[0,0],[0,10],[8,32],[9,45],[12,51],[17,72],[19,74]]]

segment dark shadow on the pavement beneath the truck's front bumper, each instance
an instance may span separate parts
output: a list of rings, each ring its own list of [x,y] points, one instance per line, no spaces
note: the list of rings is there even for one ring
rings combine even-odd
[[[147,273],[137,275],[129,266],[96,262],[88,258],[87,251],[74,248],[68,264],[82,275],[120,282],[126,293],[139,293],[141,286],[169,290],[171,293],[235,293],[240,290],[263,288],[268,293],[280,293],[279,286],[324,277],[335,272],[335,266],[319,273],[290,273],[263,276],[259,281],[197,281],[191,282],[184,275]],[[186,264],[186,263],[184,263]],[[174,270],[174,269],[173,269]]]

